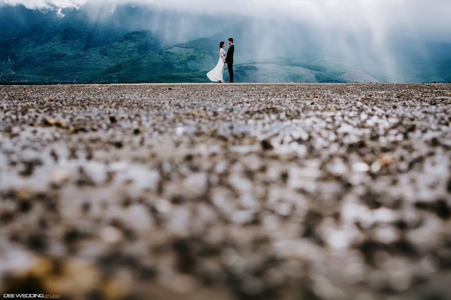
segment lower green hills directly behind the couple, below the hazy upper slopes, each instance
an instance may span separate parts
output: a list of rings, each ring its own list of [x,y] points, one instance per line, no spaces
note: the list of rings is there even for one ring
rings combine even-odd
[[[157,34],[134,31],[90,47],[83,38],[55,36],[40,43],[26,37],[12,49],[16,58],[0,64],[0,78],[15,83],[208,82],[205,74],[218,59],[216,40],[205,37],[164,48]],[[240,51],[237,61],[243,60]],[[236,63],[235,69],[240,82],[346,81],[339,78],[346,68],[295,58]]]

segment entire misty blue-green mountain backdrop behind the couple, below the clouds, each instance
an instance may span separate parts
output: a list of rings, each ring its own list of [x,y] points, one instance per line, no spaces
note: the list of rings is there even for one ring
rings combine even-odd
[[[347,47],[323,46],[316,33],[305,24],[275,19],[224,19],[132,5],[108,11],[82,6],[60,14],[5,5],[0,82],[207,82],[219,41],[230,36],[236,40],[239,82],[451,80],[451,43],[425,42],[415,50],[408,40],[394,39],[394,54],[384,64],[383,53],[365,50],[352,36],[346,45],[358,55]]]

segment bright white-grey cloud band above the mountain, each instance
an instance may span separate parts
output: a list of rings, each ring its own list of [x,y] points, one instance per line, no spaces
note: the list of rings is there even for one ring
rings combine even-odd
[[[0,0],[28,8],[56,9],[100,6],[114,9],[117,4],[143,4],[155,8],[180,9],[201,14],[242,14],[254,17],[284,18],[318,28],[340,26],[375,35],[396,31],[414,36],[451,37],[450,0]],[[227,4],[226,4],[227,3]],[[376,36],[377,38],[377,36]]]

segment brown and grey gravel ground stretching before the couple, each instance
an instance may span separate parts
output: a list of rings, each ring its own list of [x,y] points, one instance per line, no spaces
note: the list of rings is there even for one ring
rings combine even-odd
[[[449,299],[451,85],[0,86],[0,291]]]

